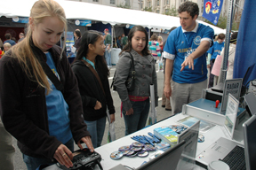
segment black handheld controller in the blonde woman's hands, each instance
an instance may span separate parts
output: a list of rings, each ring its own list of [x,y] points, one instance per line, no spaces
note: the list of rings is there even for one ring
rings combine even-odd
[[[89,170],[94,169],[94,166],[98,164],[101,170],[103,170],[100,165],[101,156],[96,151],[91,152],[88,148],[84,148],[83,150],[77,150],[73,152],[73,166],[66,167],[57,163],[61,169],[64,170]]]

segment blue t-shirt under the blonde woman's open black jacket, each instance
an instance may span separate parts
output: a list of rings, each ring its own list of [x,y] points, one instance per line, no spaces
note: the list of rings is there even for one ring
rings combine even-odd
[[[57,73],[57,69],[54,65],[52,55],[50,52],[46,53],[47,65],[50,66],[52,72],[60,80],[60,76]],[[72,133],[70,130],[70,120],[69,120],[69,108],[66,103],[60,90],[56,89],[52,81],[47,77],[52,91],[46,95],[46,107],[48,114],[48,124],[49,124],[49,133],[52,136],[55,136],[61,143],[65,144],[72,138]]]

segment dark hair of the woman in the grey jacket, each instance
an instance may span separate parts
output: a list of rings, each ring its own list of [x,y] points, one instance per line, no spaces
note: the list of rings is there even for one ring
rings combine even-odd
[[[134,36],[134,33],[136,31],[141,31],[146,35],[146,45],[145,45],[145,48],[141,51],[142,55],[148,56],[150,54],[149,50],[148,50],[148,33],[147,33],[147,30],[142,26],[132,27],[132,29],[129,31],[129,34],[128,34],[128,43],[124,46],[124,48],[120,52],[120,54],[122,54],[122,52],[124,52],[124,51],[130,52],[132,50],[132,37]]]

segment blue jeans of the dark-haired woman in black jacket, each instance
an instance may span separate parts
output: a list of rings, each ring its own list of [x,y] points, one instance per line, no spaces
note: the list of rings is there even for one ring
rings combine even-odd
[[[103,118],[100,118],[100,120],[95,121],[87,121],[84,120],[84,122],[87,125],[87,130],[92,135],[92,145],[93,148],[97,148],[101,145],[102,138],[105,132],[106,127],[106,116]]]

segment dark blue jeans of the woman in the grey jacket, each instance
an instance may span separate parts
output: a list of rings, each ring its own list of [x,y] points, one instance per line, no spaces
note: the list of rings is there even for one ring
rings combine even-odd
[[[142,102],[132,102],[132,115],[125,115],[126,111],[123,110],[124,123],[125,123],[125,135],[130,135],[142,128],[145,128],[148,120],[149,112],[149,98]]]

